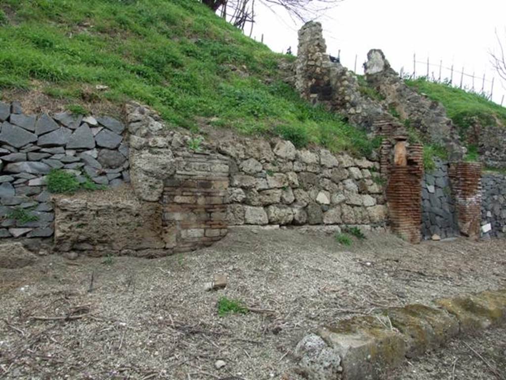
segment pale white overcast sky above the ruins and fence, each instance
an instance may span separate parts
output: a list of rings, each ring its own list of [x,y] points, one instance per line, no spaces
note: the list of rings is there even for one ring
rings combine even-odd
[[[285,52],[291,47],[297,52],[297,31],[302,22],[294,23],[282,10],[276,14],[266,7],[257,6],[257,24],[252,37],[261,39],[273,51]],[[343,0],[327,11],[318,21],[323,26],[327,52],[337,56],[353,70],[357,55],[357,73],[363,73],[370,49],[382,49],[391,66],[400,71],[413,72],[413,54],[418,74],[439,78],[442,61],[442,79],[450,78],[454,66],[453,83],[460,83],[460,73],[475,76],[475,89],[480,92],[485,74],[485,92],[491,90],[495,77],[493,100],[500,103],[506,83],[490,64],[491,50],[497,49],[495,29],[502,33],[506,44],[506,0]],[[249,33],[249,30],[247,31]],[[448,69],[445,69],[447,67]],[[463,84],[472,87],[472,78],[465,76]]]

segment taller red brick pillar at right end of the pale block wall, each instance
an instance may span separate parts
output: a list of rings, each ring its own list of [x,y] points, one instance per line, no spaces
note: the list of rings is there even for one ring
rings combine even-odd
[[[402,141],[403,138],[397,138]],[[401,144],[402,145],[402,144]],[[406,165],[391,165],[387,185],[387,201],[392,231],[417,244],[421,240],[421,177],[424,174],[423,145],[406,149]]]

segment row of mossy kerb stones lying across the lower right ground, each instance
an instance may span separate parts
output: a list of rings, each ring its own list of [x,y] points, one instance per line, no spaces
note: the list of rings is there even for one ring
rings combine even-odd
[[[295,355],[310,380],[379,380],[405,358],[504,322],[506,290],[463,294],[340,321],[305,336]]]

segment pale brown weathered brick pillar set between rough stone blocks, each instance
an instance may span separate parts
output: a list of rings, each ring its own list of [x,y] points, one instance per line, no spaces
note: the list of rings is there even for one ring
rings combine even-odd
[[[228,160],[220,155],[184,157],[163,189],[167,249],[185,252],[209,246],[227,234]]]

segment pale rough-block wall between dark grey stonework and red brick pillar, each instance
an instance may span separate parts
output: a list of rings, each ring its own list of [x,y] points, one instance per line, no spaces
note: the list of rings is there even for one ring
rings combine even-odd
[[[386,223],[383,188],[377,183],[381,181],[374,178],[378,176],[377,162],[353,159],[345,154],[333,155],[321,148],[296,149],[291,142],[281,139],[269,142],[233,134],[202,139],[198,152],[194,152],[189,149],[189,142],[197,137],[187,131],[166,128],[148,132],[144,128],[149,125],[146,119],[157,120],[156,114],[138,105],[129,109],[134,189],[141,199],[152,201],[160,199],[164,183],[170,185],[172,188],[167,194],[174,198],[168,202],[172,204],[171,212],[177,212],[170,215],[171,221],[202,217],[206,222],[217,222],[220,229],[224,222],[228,225],[358,224],[364,228]],[[145,132],[136,132],[136,128]],[[156,153],[157,149],[163,153]],[[140,165],[138,157],[143,155],[150,158]],[[156,157],[163,156],[170,157],[172,164],[163,170],[153,169],[158,166]],[[150,186],[137,185],[150,178]],[[203,182],[206,179],[209,182]],[[177,195],[192,197],[191,202],[189,198],[175,197],[177,183],[186,186]],[[205,188],[218,193],[206,196]],[[194,196],[192,192],[201,194]],[[221,219],[224,216],[221,192],[225,192],[226,221]],[[200,212],[196,215],[190,207],[195,200],[197,205],[213,209],[207,210],[204,216]],[[195,230],[189,233],[194,238],[212,238],[209,234],[218,237],[218,231],[207,231],[207,226],[198,223],[191,230]],[[220,232],[220,236],[224,234],[225,231]],[[189,237],[187,233],[183,235]]]

